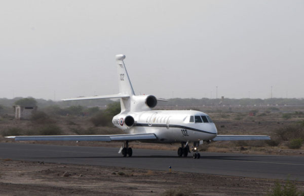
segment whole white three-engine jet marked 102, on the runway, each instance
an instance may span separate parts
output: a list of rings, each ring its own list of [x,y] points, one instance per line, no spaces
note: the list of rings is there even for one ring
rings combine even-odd
[[[200,158],[198,146],[203,142],[223,140],[269,140],[266,135],[217,135],[215,124],[210,117],[194,110],[152,110],[158,101],[154,95],[135,95],[128,72],[125,67],[125,55],[117,55],[119,93],[103,96],[77,97],[63,99],[95,100],[120,98],[121,113],[113,117],[112,123],[126,134],[119,135],[54,135],[54,136],[9,136],[18,141],[123,141],[119,150],[124,157],[132,156],[129,141],[151,143],[181,143],[177,154],[187,157],[193,153]],[[192,152],[188,146],[193,142]]]

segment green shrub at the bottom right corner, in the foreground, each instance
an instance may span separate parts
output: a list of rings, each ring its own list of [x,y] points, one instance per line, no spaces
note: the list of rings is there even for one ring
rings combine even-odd
[[[273,189],[267,194],[269,196],[300,196],[304,195],[304,192],[297,190],[295,183],[289,179],[285,184],[281,184],[279,181],[275,182]]]

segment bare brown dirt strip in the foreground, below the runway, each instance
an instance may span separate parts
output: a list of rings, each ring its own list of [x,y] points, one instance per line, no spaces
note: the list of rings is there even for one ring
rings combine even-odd
[[[263,195],[276,180],[0,160],[1,195]],[[282,181],[281,181],[282,182]],[[304,182],[294,182],[304,190]],[[167,194],[168,195],[168,194]]]

